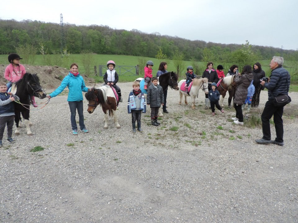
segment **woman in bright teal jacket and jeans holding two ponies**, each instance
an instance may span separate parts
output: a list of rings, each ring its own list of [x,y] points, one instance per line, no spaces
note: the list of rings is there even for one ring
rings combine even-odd
[[[79,114],[79,125],[81,132],[88,133],[88,130],[84,124],[84,115],[83,115],[83,94],[82,91],[88,92],[88,88],[85,86],[85,82],[82,76],[79,74],[79,66],[76,63],[70,65],[69,74],[64,77],[61,82],[61,85],[54,90],[48,98],[56,97],[60,94],[66,87],[69,89],[67,101],[70,107],[70,121],[72,133],[74,135],[78,134],[78,127],[75,120],[76,110]]]

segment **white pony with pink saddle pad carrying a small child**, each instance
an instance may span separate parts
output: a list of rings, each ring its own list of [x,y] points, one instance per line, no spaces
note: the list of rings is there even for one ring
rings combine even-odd
[[[208,94],[208,78],[195,78],[192,81],[192,87],[190,89],[189,95],[181,90],[181,85],[184,85],[184,82],[186,80],[181,80],[178,84],[179,87],[179,104],[181,104],[182,101],[182,96],[184,95],[184,102],[185,104],[187,103],[187,99],[186,97],[190,96],[191,100],[192,100],[192,109],[195,109],[195,100],[197,95],[199,94],[199,90],[202,89],[203,91],[205,91],[205,94]]]

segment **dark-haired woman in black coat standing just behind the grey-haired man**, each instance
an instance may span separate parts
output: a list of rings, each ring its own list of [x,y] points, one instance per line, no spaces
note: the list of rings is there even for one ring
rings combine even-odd
[[[260,79],[265,77],[265,72],[262,70],[261,64],[259,62],[254,64],[252,75],[254,76],[253,85],[255,86],[255,93],[252,96],[251,107],[258,107],[261,90],[264,90],[264,87],[260,84]]]

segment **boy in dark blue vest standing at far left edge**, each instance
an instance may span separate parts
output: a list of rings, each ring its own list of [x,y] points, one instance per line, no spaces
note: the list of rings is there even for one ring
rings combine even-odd
[[[0,81],[0,147],[2,147],[2,138],[6,125],[8,142],[15,142],[15,140],[11,138],[13,122],[15,119],[15,106],[11,102],[20,100],[18,96],[11,94],[11,92],[7,93],[6,90],[6,83]]]

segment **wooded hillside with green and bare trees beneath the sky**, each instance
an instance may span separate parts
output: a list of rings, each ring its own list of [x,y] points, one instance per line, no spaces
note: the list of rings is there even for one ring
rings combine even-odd
[[[79,54],[87,50],[96,54],[134,55],[156,57],[161,54],[174,59],[177,54],[184,60],[234,61],[233,57],[253,55],[254,59],[270,59],[282,55],[297,60],[297,50],[282,50],[268,46],[252,46],[247,41],[239,44],[221,44],[202,40],[143,33],[133,29],[112,29],[106,25],[75,25],[45,23],[32,20],[0,20],[0,54],[16,51],[16,47],[36,47],[36,54]],[[249,49],[248,49],[249,47]],[[42,49],[42,50],[41,50]],[[244,51],[243,51],[244,49]],[[249,51],[250,55],[245,55]]]

